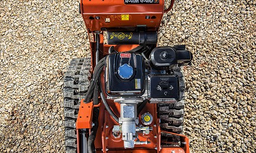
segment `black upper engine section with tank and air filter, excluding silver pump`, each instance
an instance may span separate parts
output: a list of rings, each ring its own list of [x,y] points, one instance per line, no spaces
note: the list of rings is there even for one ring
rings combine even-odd
[[[114,47],[113,47],[114,48]],[[112,49],[113,49],[112,48]],[[109,54],[105,62],[105,89],[111,97],[139,97],[145,92],[151,103],[180,99],[179,77],[171,71],[174,65],[186,65],[192,54],[184,45],[160,46],[150,51],[148,64],[144,54],[137,51]],[[143,55],[143,56],[142,56]],[[145,65],[147,78],[145,78]]]

